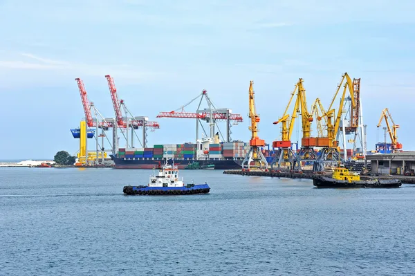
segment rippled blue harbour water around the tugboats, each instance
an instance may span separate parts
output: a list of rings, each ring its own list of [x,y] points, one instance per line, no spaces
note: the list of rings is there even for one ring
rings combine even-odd
[[[150,174],[1,168],[0,275],[414,275],[415,185],[182,170],[210,194],[122,194]]]

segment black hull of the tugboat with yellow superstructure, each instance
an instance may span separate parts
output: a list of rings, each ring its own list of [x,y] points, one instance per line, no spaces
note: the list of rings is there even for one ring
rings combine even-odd
[[[325,176],[317,176],[313,178],[313,185],[319,188],[397,188],[402,183],[399,179],[373,179],[348,182]]]

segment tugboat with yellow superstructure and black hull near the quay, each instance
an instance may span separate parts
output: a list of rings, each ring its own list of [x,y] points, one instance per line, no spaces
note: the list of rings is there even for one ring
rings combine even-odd
[[[349,172],[344,165],[338,165],[333,176],[315,176],[313,185],[319,188],[395,188],[402,185],[399,179],[370,179],[360,180],[360,175]]]

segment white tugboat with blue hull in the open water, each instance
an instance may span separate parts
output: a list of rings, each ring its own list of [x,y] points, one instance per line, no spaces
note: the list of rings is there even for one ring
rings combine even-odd
[[[124,194],[133,195],[174,195],[174,194],[208,194],[210,187],[207,183],[201,185],[185,184],[183,178],[178,179],[177,165],[158,162],[158,175],[150,176],[147,186],[124,186]]]

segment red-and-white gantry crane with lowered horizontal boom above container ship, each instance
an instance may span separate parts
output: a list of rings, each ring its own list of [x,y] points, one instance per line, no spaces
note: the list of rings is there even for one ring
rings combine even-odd
[[[199,100],[199,106],[196,109],[196,112],[185,112],[184,109],[189,104],[194,102],[195,100]],[[201,103],[203,98],[205,98],[206,102],[208,103],[208,109],[200,109]],[[226,141],[232,142],[232,138],[230,137],[230,134],[232,133],[230,131],[231,122],[234,123],[234,125],[237,125],[238,122],[242,122],[242,116],[240,114],[232,114],[232,109],[216,109],[214,107],[214,104],[210,100],[208,96],[208,92],[206,90],[203,90],[196,98],[192,99],[190,102],[187,102],[187,104],[183,105],[182,107],[176,109],[175,111],[169,111],[169,112],[160,112],[158,113],[157,118],[190,118],[190,119],[196,119],[196,141],[199,140],[199,124],[201,125],[203,131],[206,134],[205,129],[203,128],[203,125],[201,124],[201,120],[204,120],[205,122],[208,122],[210,125],[210,138],[214,138],[215,135],[215,126],[217,127],[216,122],[219,121],[226,121],[227,129],[226,129]],[[218,127],[219,129],[219,127]],[[219,133],[221,131],[219,130]],[[223,136],[222,136],[223,139]],[[225,139],[223,139],[225,140]]]

